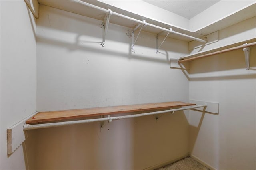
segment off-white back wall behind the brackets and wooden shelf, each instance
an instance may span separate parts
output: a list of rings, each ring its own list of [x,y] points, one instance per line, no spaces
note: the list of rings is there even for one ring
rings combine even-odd
[[[130,51],[129,28],[40,5],[37,110],[52,111],[188,101],[188,78],[170,57],[188,43],[141,32]],[[136,31],[135,38],[138,35]],[[160,37],[162,41],[164,37]],[[171,52],[172,51],[172,52]],[[36,169],[144,169],[188,154],[187,112],[35,130]]]

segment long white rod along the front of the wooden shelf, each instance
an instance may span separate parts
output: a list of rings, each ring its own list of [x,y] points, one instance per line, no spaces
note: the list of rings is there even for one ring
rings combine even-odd
[[[178,109],[170,109],[170,110],[165,110],[165,111],[156,111],[156,112],[149,112],[149,113],[140,113],[140,114],[126,115],[126,116],[104,117],[104,118],[97,118],[97,119],[85,119],[85,120],[78,120],[78,121],[66,121],[66,122],[56,122],[56,123],[43,123],[43,124],[36,124],[36,125],[25,124],[23,127],[23,130],[26,131],[26,130],[32,130],[32,129],[60,127],[60,126],[64,126],[64,125],[74,125],[74,124],[80,124],[80,123],[90,123],[90,122],[101,122],[101,121],[135,118],[135,117],[141,117],[141,116],[147,116],[147,115],[156,115],[156,114],[160,114],[160,113],[195,109],[198,107],[207,107],[207,105],[197,105],[197,106],[183,107],[183,108],[178,108]]]

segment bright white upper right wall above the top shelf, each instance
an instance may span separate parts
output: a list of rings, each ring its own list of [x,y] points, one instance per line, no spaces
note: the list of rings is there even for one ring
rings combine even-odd
[[[189,20],[189,30],[199,30],[252,3],[255,3],[255,0],[220,0],[210,8],[191,18]]]

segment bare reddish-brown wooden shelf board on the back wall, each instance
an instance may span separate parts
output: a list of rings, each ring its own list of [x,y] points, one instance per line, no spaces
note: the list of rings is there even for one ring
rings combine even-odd
[[[118,113],[130,113],[137,111],[150,111],[154,109],[170,109],[174,107],[196,105],[193,103],[184,103],[180,101],[164,102],[164,103],[148,103],[139,105],[124,105],[112,107],[97,107],[88,109],[74,109],[63,111],[39,112],[26,121],[26,124],[45,123],[52,121],[85,118],[100,115],[112,115]]]

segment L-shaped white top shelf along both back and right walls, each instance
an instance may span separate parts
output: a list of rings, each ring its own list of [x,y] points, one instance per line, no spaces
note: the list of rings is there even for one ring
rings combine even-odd
[[[43,5],[46,5],[46,6],[51,6],[51,7],[58,8],[58,9],[61,9],[61,10],[65,10],[65,11],[68,11],[68,12],[73,12],[73,13],[80,14],[80,15],[83,15],[83,16],[87,16],[87,17],[90,17],[90,18],[94,18],[94,19],[97,19],[97,20],[103,20],[105,15],[106,15],[106,13],[104,13],[100,10],[95,10],[93,8],[90,8],[90,7],[81,6],[80,4],[72,2],[72,1],[38,0],[38,2],[40,4],[43,4]],[[115,6],[111,6],[111,5],[106,4],[104,2],[100,2],[98,0],[93,0],[93,1],[90,0],[90,1],[86,1],[86,2],[90,3],[92,5],[96,5],[96,6],[99,6],[101,8],[104,8],[106,10],[108,8],[110,8],[113,12],[118,12],[120,14],[129,16],[131,18],[135,18],[137,20],[141,20],[141,21],[146,20],[147,23],[154,24],[154,25],[160,26],[162,28],[166,28],[166,29],[172,28],[172,30],[174,30],[176,32],[180,32],[182,34],[186,34],[186,35],[193,36],[193,37],[196,37],[196,38],[202,38],[202,36],[204,36],[204,35],[208,35],[212,32],[221,30],[223,28],[226,28],[228,26],[231,26],[233,24],[241,22],[242,20],[252,18],[256,15],[255,14],[256,5],[254,3],[254,4],[251,4],[251,5],[246,6],[246,7],[241,7],[240,10],[237,10],[237,11],[235,11],[235,12],[233,12],[233,13],[227,15],[227,16],[224,16],[223,18],[220,18],[219,20],[216,20],[216,21],[214,21],[214,22],[212,22],[212,23],[210,23],[210,24],[208,24],[208,25],[206,25],[206,26],[204,26],[204,27],[202,27],[198,30],[191,31],[191,30],[188,30],[186,28],[182,28],[180,26],[176,26],[176,25],[173,25],[173,24],[170,24],[170,23],[167,23],[167,22],[156,20],[154,18],[143,16],[142,14],[132,13],[132,12],[129,12],[127,10],[123,10],[123,9],[117,8]],[[135,3],[135,2],[133,2],[133,3]],[[136,4],[134,4],[134,5],[136,5]],[[118,17],[118,16],[111,16],[110,17],[110,23],[118,24],[118,25],[125,26],[125,27],[132,28],[132,29],[134,29],[138,25],[138,23],[136,23],[134,21],[124,20],[123,18]],[[150,26],[143,27],[142,30],[145,31],[145,32],[150,32],[152,34],[159,34],[161,32],[160,30],[158,30],[156,28],[152,28]],[[165,36],[165,35],[163,34],[162,36]],[[192,41],[190,38],[179,36],[177,34],[169,34],[168,37],[178,39],[178,40],[182,40],[182,41],[187,41],[187,42]]]

